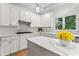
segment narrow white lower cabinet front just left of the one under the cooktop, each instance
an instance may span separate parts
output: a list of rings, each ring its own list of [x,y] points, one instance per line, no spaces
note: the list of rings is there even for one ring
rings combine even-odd
[[[11,37],[11,53],[19,50],[19,37],[13,36]]]

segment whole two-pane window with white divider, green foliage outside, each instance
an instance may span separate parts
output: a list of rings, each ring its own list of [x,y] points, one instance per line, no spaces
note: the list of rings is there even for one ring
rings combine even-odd
[[[56,29],[61,30],[62,28],[65,28],[67,30],[75,30],[76,29],[76,15],[58,18],[56,20]]]

